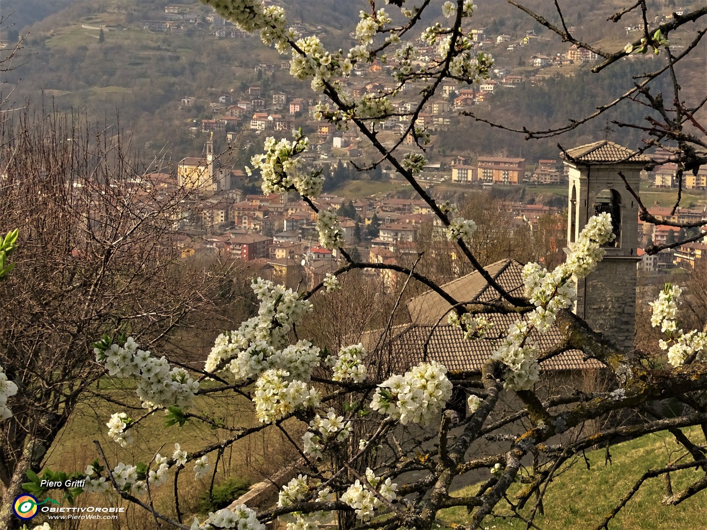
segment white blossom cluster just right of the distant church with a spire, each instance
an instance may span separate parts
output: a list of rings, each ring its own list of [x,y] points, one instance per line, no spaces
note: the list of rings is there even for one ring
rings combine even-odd
[[[288,189],[296,189],[300,195],[309,197],[322,193],[324,177],[321,172],[303,171],[302,162],[297,158],[307,151],[308,146],[309,139],[302,135],[301,129],[294,131],[293,141],[276,141],[272,136],[265,140],[265,152],[250,159],[252,166],[261,172],[264,194],[282,193]]]

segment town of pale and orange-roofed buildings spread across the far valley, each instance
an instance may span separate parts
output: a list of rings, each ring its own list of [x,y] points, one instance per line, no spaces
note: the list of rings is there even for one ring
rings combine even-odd
[[[675,12],[682,14],[688,11],[679,8]],[[667,20],[672,16],[671,12],[666,11],[662,19],[655,22]],[[197,28],[218,39],[257,38],[218,18],[214,12],[204,15],[200,11],[189,11],[184,6],[176,5],[166,5],[159,20],[141,20],[141,27],[146,31],[167,34]],[[641,21],[637,20],[635,24],[626,25],[626,35],[640,32],[642,28]],[[306,24],[296,25],[295,29],[303,36],[317,35],[322,30]],[[488,102],[496,90],[513,90],[523,83],[536,83],[545,75],[544,71],[552,67],[591,63],[597,59],[596,54],[586,49],[568,45],[563,50],[532,53],[530,59],[514,62],[508,57],[512,58],[520,49],[534,47],[546,50],[544,39],[534,35],[533,30],[524,30],[518,35],[496,35],[492,28],[469,28],[469,32],[480,49],[493,49],[496,56],[499,51],[503,54],[489,72],[490,78],[479,86],[460,86],[450,82],[440,87],[438,97],[431,100],[417,116],[417,125],[431,134],[447,130],[455,116],[474,105]],[[421,40],[416,41],[415,45],[419,53],[414,62],[420,66],[438,59],[435,47]],[[512,63],[515,67],[501,66]],[[379,61],[358,63],[351,76],[340,81],[356,98],[365,94],[388,93],[394,89],[388,71],[395,66],[395,59],[386,64]],[[524,68],[526,66],[534,68],[528,71]],[[255,66],[259,77],[283,69],[289,69],[289,61],[262,61]],[[215,253],[250,260],[254,266],[269,271],[280,281],[297,278],[296,282],[299,282],[306,278],[308,285],[316,285],[327,272],[336,268],[339,259],[336,250],[318,245],[316,213],[294,194],[264,196],[245,193],[243,190],[249,182],[247,175],[243,170],[229,169],[226,165],[221,167],[214,153],[214,135],[217,139],[225,137],[228,144],[235,145],[244,132],[264,139],[265,136],[288,136],[293,127],[301,126],[310,138],[310,151],[303,154],[303,160],[312,168],[325,172],[332,172],[337,165],[349,167],[351,160],[365,154],[366,144],[353,132],[337,130],[327,122],[317,121],[315,101],[306,92],[264,86],[264,83],[241,88],[185,94],[180,102],[181,107],[189,109],[200,106],[209,115],[189,120],[186,125],[193,136],[204,135],[204,151],[182,158],[177,165],[176,178],[167,173],[157,173],[148,175],[148,179],[165,191],[182,187],[193,192],[192,200],[187,201],[177,220],[178,228],[185,232],[177,240],[182,256]],[[407,101],[404,95],[403,92],[392,103],[395,112],[410,112],[414,108],[414,103]],[[401,115],[380,122],[379,130],[399,135],[405,134],[408,126],[409,117]],[[415,150],[418,148],[416,142],[417,139],[408,134],[401,148]],[[657,153],[656,156],[667,158],[665,153]],[[395,179],[394,172],[383,172],[386,178]],[[641,176],[656,188],[672,188],[678,182],[677,165],[664,163],[651,173],[643,172]],[[560,158],[527,160],[489,153],[479,154],[470,160],[450,153],[439,160],[428,160],[419,179],[430,184],[455,184],[460,192],[464,192],[527,184],[561,186],[566,183],[567,175]],[[707,170],[703,168],[696,175],[686,173],[682,185],[684,189],[707,189]],[[521,201],[501,201],[500,204],[499,208],[508,219],[504,230],[514,230],[519,226],[535,230],[541,218],[559,216],[564,219],[565,215],[556,206]],[[324,194],[315,201],[315,205],[320,209],[336,210],[346,246],[356,248],[359,257],[378,263],[394,263],[402,254],[417,252],[418,232],[423,225],[432,225],[434,217],[424,201],[390,196]],[[656,205],[650,208],[650,213],[676,222],[707,219],[704,206],[672,211],[672,208]],[[563,223],[560,233],[565,230],[566,220]],[[677,228],[642,221],[638,223],[638,231],[638,240],[643,247],[661,245],[686,235],[678,234]],[[441,235],[438,237],[441,238]],[[707,245],[701,242],[665,249],[653,256],[639,249],[643,259],[638,263],[638,269],[658,273],[674,267],[694,267],[695,260],[700,259],[706,250]],[[561,250],[558,249],[558,252]],[[386,283],[394,281],[390,271],[381,273],[381,276]]]

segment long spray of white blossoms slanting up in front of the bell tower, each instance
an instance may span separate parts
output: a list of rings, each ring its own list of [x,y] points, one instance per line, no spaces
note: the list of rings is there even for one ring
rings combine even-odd
[[[532,329],[547,331],[554,324],[559,310],[570,307],[576,299],[573,278],[584,278],[593,271],[602,257],[602,245],[614,239],[612,220],[601,213],[588,220],[577,241],[570,244],[567,260],[553,271],[538,264],[523,267],[525,296],[535,309],[526,315],[527,322],[518,319],[508,329],[501,346],[492,358],[506,365],[507,388],[529,389],[539,376],[537,346],[530,340]]]

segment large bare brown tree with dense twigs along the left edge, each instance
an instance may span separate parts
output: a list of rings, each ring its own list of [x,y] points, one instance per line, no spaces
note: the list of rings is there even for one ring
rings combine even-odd
[[[0,119],[0,218],[19,230],[16,268],[0,284],[0,366],[18,386],[0,431],[0,526],[13,529],[28,473],[45,466],[76,405],[100,395],[95,338],[124,328],[183,351],[170,342],[194,312],[209,317],[218,284],[216,270],[175,261],[185,192],[151,187],[117,126],[29,111]]]

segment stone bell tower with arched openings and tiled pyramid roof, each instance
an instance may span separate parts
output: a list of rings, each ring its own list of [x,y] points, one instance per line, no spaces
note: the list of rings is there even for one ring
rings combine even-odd
[[[634,348],[636,334],[636,262],[638,204],[619,177],[638,194],[640,173],[650,160],[608,140],[561,153],[569,177],[567,240],[577,240],[597,213],[612,216],[616,239],[587,278],[577,284],[575,314],[624,351]]]

